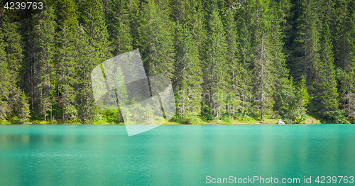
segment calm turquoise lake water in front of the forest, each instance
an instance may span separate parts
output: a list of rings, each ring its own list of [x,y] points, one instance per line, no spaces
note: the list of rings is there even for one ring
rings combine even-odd
[[[325,185],[355,185],[355,125],[159,126],[130,137],[114,125],[0,126],[0,185],[212,185],[229,176],[278,179],[239,185],[346,176]]]

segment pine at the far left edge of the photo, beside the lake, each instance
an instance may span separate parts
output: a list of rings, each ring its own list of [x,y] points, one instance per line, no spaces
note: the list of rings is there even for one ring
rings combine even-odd
[[[17,116],[19,121],[25,122],[29,118],[29,108],[27,104],[27,97],[23,91],[18,87],[20,82],[19,72],[23,58],[23,48],[21,42],[21,35],[18,31],[18,23],[9,23],[7,16],[1,20],[0,28],[0,43],[3,46],[1,57],[4,57],[4,63],[1,65],[3,72],[1,74],[6,77],[1,77],[0,97],[1,97],[1,111],[0,117]],[[5,37],[2,37],[2,36]],[[1,96],[1,94],[3,94]],[[6,113],[4,113],[6,111]]]

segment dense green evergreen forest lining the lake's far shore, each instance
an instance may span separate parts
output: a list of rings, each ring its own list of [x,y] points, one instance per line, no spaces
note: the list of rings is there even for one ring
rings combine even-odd
[[[90,72],[138,49],[172,121],[355,123],[354,0],[53,0],[0,9],[0,123],[123,122]],[[26,0],[24,1],[26,2]]]

